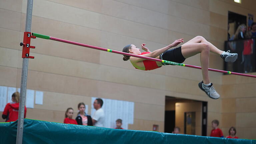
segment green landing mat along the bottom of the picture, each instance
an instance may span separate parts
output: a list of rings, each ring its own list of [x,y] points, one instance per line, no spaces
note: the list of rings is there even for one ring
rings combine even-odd
[[[0,144],[15,144],[17,121],[0,123]],[[256,144],[256,140],[227,139],[120,130],[63,124],[39,120],[24,120],[23,144]]]

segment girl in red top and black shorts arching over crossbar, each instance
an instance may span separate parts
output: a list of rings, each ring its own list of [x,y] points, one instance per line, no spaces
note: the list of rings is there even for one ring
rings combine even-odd
[[[210,83],[210,79],[208,76],[208,66],[209,66],[209,52],[213,52],[219,54],[220,57],[225,60],[225,62],[234,62],[237,59],[236,53],[229,53],[230,51],[221,51],[213,44],[208,42],[202,36],[196,36],[195,38],[191,39],[190,41],[186,42],[185,44],[181,45],[178,48],[168,50],[172,47],[176,47],[178,44],[183,43],[183,38],[175,40],[172,44],[150,52],[146,44],[141,44],[141,48],[146,52],[141,53],[140,49],[137,48],[135,45],[130,44],[123,48],[123,52],[136,54],[136,55],[143,55],[145,57],[151,57],[161,60],[167,60],[177,63],[183,63],[186,58],[192,57],[198,53],[200,53],[200,60],[201,60],[201,67],[202,67],[202,75],[203,81],[198,84],[199,88],[203,90],[210,98],[218,99],[220,95],[216,92],[213,87],[213,84]],[[131,64],[140,70],[153,70],[156,68],[160,68],[163,65],[169,65],[161,62],[145,60],[142,58],[137,57],[130,57],[124,55],[123,60],[127,61],[130,59]]]

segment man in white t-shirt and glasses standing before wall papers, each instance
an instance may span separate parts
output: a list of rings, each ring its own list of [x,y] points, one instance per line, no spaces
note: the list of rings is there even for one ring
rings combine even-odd
[[[94,113],[92,117],[92,124],[93,126],[98,126],[98,127],[104,127],[104,111],[101,108],[103,105],[103,100],[100,98],[97,98],[94,103],[93,107],[96,109],[96,112]]]

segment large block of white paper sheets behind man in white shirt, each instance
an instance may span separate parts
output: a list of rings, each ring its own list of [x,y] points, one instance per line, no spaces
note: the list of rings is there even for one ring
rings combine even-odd
[[[96,111],[93,107],[93,103],[96,97],[92,97],[92,108],[91,116],[93,117]],[[122,119],[122,128],[128,129],[128,124],[133,124],[134,115],[134,102],[120,101],[112,99],[102,99],[103,106],[102,109],[105,113],[104,127],[115,128],[116,120]]]

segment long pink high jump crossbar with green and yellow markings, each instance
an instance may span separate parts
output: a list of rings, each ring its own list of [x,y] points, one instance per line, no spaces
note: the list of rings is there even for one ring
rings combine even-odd
[[[59,42],[69,43],[69,44],[83,46],[83,47],[87,47],[87,48],[92,48],[92,49],[112,52],[112,53],[116,53],[116,54],[127,55],[127,56],[132,56],[132,57],[137,57],[137,58],[142,58],[142,59],[162,62],[162,63],[166,63],[166,64],[172,64],[172,65],[178,65],[178,66],[184,66],[184,67],[201,69],[201,67],[199,67],[199,66],[193,66],[193,65],[183,64],[183,63],[176,63],[176,62],[160,60],[160,59],[151,58],[151,57],[145,57],[145,56],[142,56],[142,55],[135,55],[135,54],[130,54],[130,53],[126,53],[126,52],[120,52],[120,51],[116,51],[116,50],[106,49],[106,48],[92,46],[92,45],[87,45],[87,44],[78,43],[78,42],[69,41],[69,40],[64,40],[64,39],[55,38],[55,37],[50,37],[50,36],[47,36],[47,35],[42,35],[42,34],[37,34],[37,33],[32,33],[32,35],[35,36],[35,37],[38,37],[38,38],[50,39],[50,40],[54,40],[54,41],[59,41]],[[217,70],[217,69],[211,69],[211,68],[208,68],[208,70],[209,71],[214,71],[214,72],[220,72],[220,73],[226,73],[226,74],[233,74],[233,75],[240,75],[240,76],[256,78],[256,75],[242,74],[242,73],[236,73],[236,72],[231,72],[231,71],[223,71],[223,70]]]

